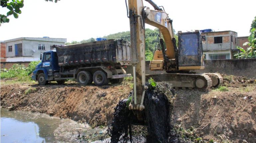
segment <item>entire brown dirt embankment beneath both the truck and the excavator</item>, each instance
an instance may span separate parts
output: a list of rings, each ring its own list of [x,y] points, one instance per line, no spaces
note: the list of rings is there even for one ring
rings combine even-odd
[[[256,83],[226,76],[225,88],[210,91],[176,90],[173,121],[194,128],[198,137],[215,141],[256,141]],[[114,107],[127,98],[127,85],[1,85],[1,107],[46,113],[92,126],[111,121]]]

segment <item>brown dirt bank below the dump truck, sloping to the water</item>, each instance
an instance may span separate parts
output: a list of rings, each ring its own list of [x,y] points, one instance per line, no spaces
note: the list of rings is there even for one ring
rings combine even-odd
[[[46,113],[60,118],[106,125],[129,86],[1,85],[1,107]]]

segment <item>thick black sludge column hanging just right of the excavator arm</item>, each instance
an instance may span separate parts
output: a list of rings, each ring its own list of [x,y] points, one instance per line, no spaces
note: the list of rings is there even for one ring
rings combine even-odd
[[[169,104],[166,96],[146,92],[144,102],[145,117],[148,125],[148,143],[167,143],[170,130]]]

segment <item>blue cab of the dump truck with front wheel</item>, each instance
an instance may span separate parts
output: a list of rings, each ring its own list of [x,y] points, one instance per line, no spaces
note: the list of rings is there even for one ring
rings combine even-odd
[[[47,84],[48,81],[54,80],[54,72],[58,72],[58,56],[56,51],[47,51],[40,55],[42,61],[36,66],[32,73],[32,79],[38,81],[40,85]],[[56,80],[58,83],[64,83],[64,80]]]

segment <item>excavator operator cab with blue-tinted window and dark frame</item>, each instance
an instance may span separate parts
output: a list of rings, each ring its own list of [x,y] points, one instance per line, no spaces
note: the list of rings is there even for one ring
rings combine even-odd
[[[203,51],[201,34],[199,30],[194,32],[178,32],[179,70],[203,69]]]

